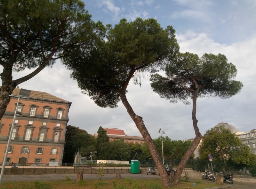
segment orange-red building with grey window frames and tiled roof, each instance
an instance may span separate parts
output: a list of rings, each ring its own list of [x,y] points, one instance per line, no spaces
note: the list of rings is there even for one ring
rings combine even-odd
[[[12,95],[19,95],[14,89]],[[0,162],[3,162],[16,106],[7,163],[45,165],[62,163],[68,111],[71,102],[46,92],[31,91],[29,99],[11,97],[0,122]]]

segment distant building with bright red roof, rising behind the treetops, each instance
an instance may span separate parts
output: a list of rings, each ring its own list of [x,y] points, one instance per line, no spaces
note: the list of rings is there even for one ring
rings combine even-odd
[[[120,139],[124,139],[125,143],[133,142],[134,144],[136,143],[143,144],[145,142],[142,136],[128,136],[124,133],[124,130],[121,130],[121,129],[104,128],[104,130],[107,131],[107,135],[109,137],[110,142],[114,140],[120,140]],[[97,136],[98,136],[98,133],[94,134],[95,138]]]

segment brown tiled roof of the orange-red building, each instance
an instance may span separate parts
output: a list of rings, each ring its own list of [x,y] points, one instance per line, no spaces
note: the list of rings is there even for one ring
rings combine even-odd
[[[19,95],[20,89],[15,88],[12,92],[12,95]],[[67,100],[64,100],[62,98],[56,97],[54,95],[51,95],[47,92],[41,92],[41,91],[31,91],[29,98],[37,98],[37,99],[45,99],[45,100],[54,100],[54,101],[61,101],[61,102],[68,102]]]

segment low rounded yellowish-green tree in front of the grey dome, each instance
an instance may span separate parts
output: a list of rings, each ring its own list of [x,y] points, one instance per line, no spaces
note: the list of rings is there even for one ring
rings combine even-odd
[[[216,161],[224,163],[224,172],[227,161],[244,165],[256,164],[255,155],[251,153],[250,148],[242,144],[240,139],[224,126],[213,127],[203,136],[199,156],[201,159],[208,159],[209,153]]]

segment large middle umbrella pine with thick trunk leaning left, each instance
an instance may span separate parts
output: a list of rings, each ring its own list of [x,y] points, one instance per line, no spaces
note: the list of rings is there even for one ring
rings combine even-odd
[[[168,26],[165,30],[155,19],[133,22],[121,19],[115,27],[107,25],[105,38],[95,40],[88,50],[86,46],[70,48],[64,63],[72,70],[71,76],[77,80],[84,94],[89,95],[100,107],[117,107],[121,100],[128,114],[148,145],[165,187],[171,182],[164,170],[163,162],[153,140],[129,104],[126,93],[131,79],[140,83],[143,72],[154,73],[164,68],[167,56],[173,57],[179,51],[175,30]]]

